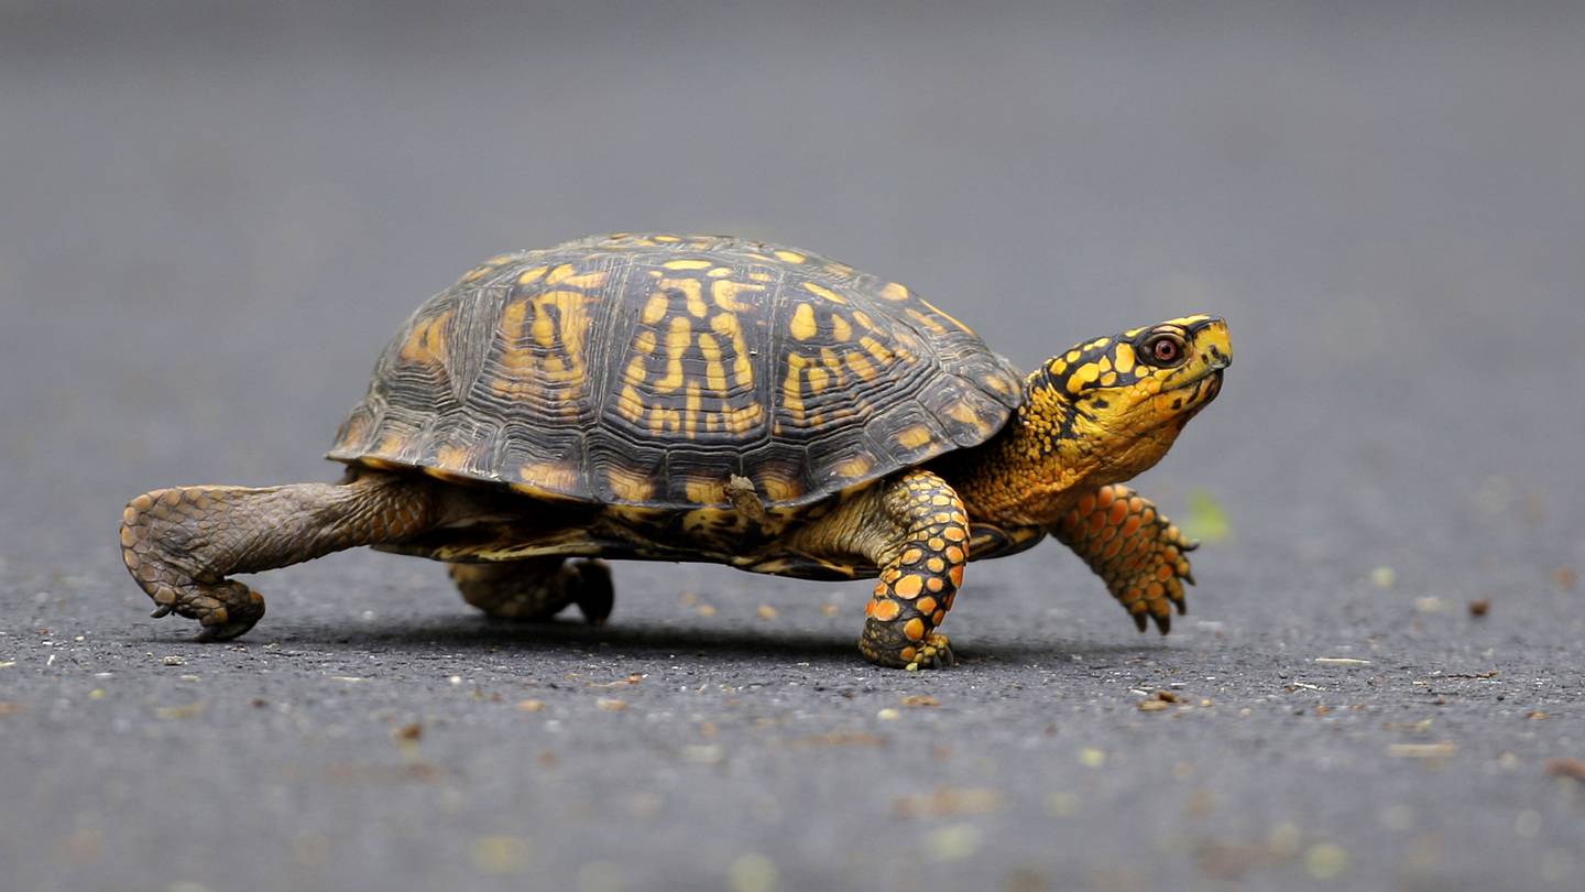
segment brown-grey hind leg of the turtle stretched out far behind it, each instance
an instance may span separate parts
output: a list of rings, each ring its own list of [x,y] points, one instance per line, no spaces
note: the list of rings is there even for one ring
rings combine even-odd
[[[122,513],[120,554],[154,598],[154,616],[197,619],[200,641],[223,641],[265,616],[265,598],[228,575],[401,541],[434,525],[437,502],[423,478],[384,473],[341,484],[157,489]]]

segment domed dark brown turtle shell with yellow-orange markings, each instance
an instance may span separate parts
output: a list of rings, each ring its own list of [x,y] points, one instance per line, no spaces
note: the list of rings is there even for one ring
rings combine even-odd
[[[900,284],[729,236],[491,257],[396,333],[330,457],[540,498],[808,505],[995,433],[1018,371]],[[740,483],[737,486],[742,486]]]

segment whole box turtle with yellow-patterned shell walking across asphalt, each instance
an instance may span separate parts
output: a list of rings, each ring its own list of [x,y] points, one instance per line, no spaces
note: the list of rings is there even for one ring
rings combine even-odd
[[[1194,543],[1124,486],[1222,387],[1225,321],[1081,341],[1029,375],[911,289],[812,251],[617,233],[491,257],[425,302],[336,433],[338,483],[133,498],[122,557],[154,616],[243,635],[228,579],[353,546],[445,562],[463,598],[604,622],[605,559],[875,579],[859,652],[956,662],[970,560],[1045,536],[1141,632]]]

